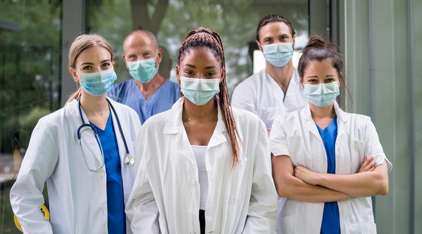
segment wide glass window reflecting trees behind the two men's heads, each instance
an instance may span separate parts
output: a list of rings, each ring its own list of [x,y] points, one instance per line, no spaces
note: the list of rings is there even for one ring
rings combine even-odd
[[[299,50],[306,45],[309,28],[308,0],[87,0],[86,14],[87,31],[104,36],[113,46],[116,82],[130,78],[122,54],[123,40],[132,30],[146,29],[157,37],[164,51],[160,74],[176,80],[174,66],[186,33],[200,26],[211,28],[223,41],[230,92],[253,74],[254,64],[265,67],[262,55],[255,52],[261,18],[268,14],[286,17],[296,31]]]

